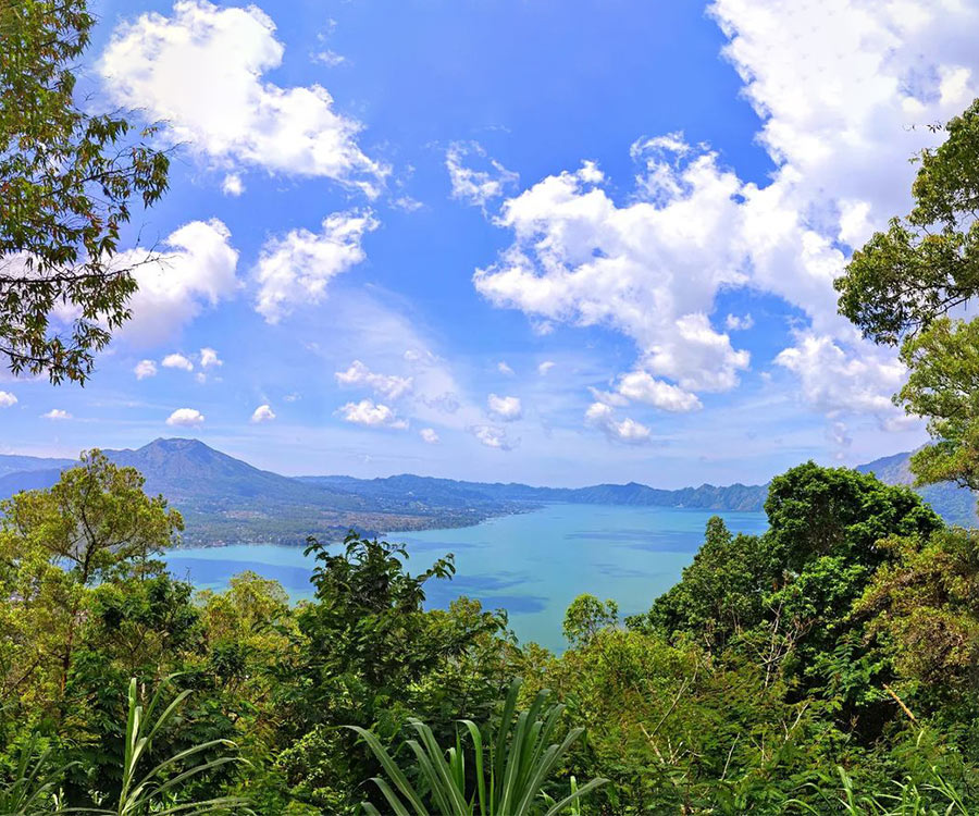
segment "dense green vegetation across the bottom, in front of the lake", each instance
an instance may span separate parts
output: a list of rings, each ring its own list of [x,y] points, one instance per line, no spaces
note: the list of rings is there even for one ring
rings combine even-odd
[[[979,537],[907,487],[793,468],[765,534],[711,519],[647,613],[578,598],[560,656],[478,602],[426,610],[451,556],[411,574],[356,534],[309,541],[310,602],[251,573],[195,594],[141,487],[95,452],[0,506],[10,813],[979,806]]]

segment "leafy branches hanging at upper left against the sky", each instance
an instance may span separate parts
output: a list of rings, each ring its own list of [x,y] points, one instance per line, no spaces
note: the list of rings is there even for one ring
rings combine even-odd
[[[0,356],[11,371],[84,382],[129,317],[133,267],[116,252],[133,199],[166,190],[170,160],[119,114],[75,100],[87,0],[0,3]],[[71,329],[52,313],[67,308]]]

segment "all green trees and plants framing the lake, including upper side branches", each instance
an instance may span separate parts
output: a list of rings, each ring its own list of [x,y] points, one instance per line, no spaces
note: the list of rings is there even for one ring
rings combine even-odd
[[[0,3],[0,351],[84,382],[135,282],[111,264],[169,157],[74,106],[84,2]],[[914,209],[856,250],[841,313],[900,347],[920,483],[979,489],[979,102],[915,158]],[[70,335],[52,310],[79,307]],[[568,608],[559,655],[503,610],[425,606],[451,554],[314,537],[313,598],[195,592],[183,521],[83,455],[0,504],[0,814],[974,814],[979,531],[909,489],[802,463],[769,528],[719,518],[669,592]]]

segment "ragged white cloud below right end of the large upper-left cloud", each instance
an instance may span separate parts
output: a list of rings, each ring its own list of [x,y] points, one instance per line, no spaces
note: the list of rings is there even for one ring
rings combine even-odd
[[[256,310],[277,323],[297,306],[320,302],[333,277],[364,259],[361,239],[376,226],[370,212],[335,212],[319,234],[293,230],[265,242],[255,270]]]

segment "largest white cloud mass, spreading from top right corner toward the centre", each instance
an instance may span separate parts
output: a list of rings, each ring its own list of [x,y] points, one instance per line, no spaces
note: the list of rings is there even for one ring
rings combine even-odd
[[[476,270],[475,287],[535,324],[610,326],[634,342],[636,370],[692,395],[734,387],[749,363],[708,319],[718,292],[773,294],[808,320],[808,335],[779,362],[800,375],[813,406],[882,411],[893,358],[837,313],[832,281],[848,247],[909,203],[907,158],[941,138],[922,125],[947,121],[979,94],[970,45],[979,7],[715,0],[709,11],[761,120],[770,180],[743,182],[680,133],[641,138],[631,151],[635,189],[623,202],[591,163],[507,199],[498,224],[512,245]],[[749,322],[731,316],[724,325]],[[859,396],[804,379],[814,344],[844,372],[870,357]]]

